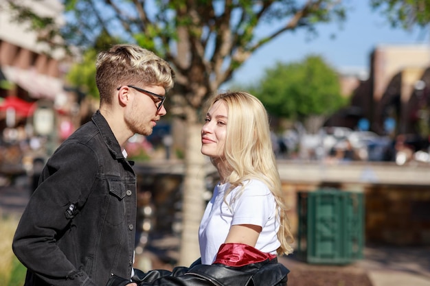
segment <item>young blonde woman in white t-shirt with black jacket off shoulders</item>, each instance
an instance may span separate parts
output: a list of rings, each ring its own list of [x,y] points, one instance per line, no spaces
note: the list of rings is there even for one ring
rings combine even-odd
[[[139,286],[286,286],[277,254],[293,251],[267,112],[248,93],[214,97],[201,131],[201,152],[219,184],[199,230],[201,263],[172,272],[135,270]],[[130,281],[113,274],[106,286]]]

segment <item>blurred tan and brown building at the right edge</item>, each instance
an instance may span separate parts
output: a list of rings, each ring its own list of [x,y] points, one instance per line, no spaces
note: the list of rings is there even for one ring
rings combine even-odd
[[[376,46],[367,78],[362,73],[355,77],[341,73],[342,90],[350,94],[350,106],[331,117],[326,126],[360,129],[361,123],[367,122],[363,126],[381,135],[428,136],[429,67],[428,45]]]

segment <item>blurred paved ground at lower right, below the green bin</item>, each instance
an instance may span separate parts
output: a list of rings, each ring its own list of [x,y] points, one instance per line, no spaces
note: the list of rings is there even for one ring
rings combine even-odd
[[[320,283],[313,283],[313,286],[367,286],[365,276],[372,286],[430,286],[430,247],[366,246],[363,254],[364,259],[343,266],[310,265],[294,256],[282,258],[281,261],[291,270],[291,285],[288,283],[288,286],[301,285],[293,281],[301,279],[294,274],[295,271],[321,276]],[[350,279],[343,281],[345,277]],[[324,283],[323,278],[331,278],[332,284]]]

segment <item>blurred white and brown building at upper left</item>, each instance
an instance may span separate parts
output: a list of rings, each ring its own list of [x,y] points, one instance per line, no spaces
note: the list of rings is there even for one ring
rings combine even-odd
[[[63,6],[56,0],[27,3],[41,16],[59,16],[63,11]],[[14,12],[8,8],[8,3],[1,3],[0,8],[0,68],[3,82],[10,83],[1,86],[2,97],[15,95],[29,102],[55,100],[63,93],[60,62],[65,53],[56,50],[48,56],[49,47],[38,43],[38,32],[30,30],[26,23],[13,21]]]

